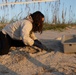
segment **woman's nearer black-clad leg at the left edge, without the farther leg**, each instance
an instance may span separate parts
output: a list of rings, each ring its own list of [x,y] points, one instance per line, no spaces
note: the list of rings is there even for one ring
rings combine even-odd
[[[10,46],[7,35],[0,32],[0,55],[8,54]]]

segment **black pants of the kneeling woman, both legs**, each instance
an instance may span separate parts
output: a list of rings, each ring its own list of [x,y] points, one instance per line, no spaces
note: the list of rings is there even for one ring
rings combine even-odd
[[[0,55],[8,54],[10,47],[25,47],[22,40],[14,40],[0,31]]]

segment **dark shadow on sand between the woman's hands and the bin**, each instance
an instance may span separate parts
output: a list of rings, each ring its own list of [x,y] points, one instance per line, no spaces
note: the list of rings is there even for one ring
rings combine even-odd
[[[40,39],[40,41],[48,48],[47,52],[64,52],[63,44],[60,40]]]

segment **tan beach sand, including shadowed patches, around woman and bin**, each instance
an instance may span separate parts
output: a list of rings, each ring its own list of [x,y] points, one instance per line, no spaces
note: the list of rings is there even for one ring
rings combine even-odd
[[[11,48],[0,56],[0,75],[76,75],[76,54],[63,53],[61,37],[67,34],[76,34],[76,29],[36,33],[48,51],[32,54],[31,47]]]

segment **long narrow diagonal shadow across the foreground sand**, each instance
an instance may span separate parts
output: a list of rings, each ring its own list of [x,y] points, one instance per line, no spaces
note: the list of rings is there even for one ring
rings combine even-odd
[[[48,64],[47,65],[43,64],[41,61],[37,60],[35,57],[31,56],[29,53],[26,53],[25,51],[19,51],[18,53],[21,54],[22,56],[26,57],[31,63],[33,63],[38,68],[42,67],[44,74],[45,73],[53,73],[55,75],[66,75],[63,72],[59,72],[57,69],[50,67],[50,65],[48,65]],[[40,73],[38,74],[38,72],[36,72],[36,73],[37,74],[35,74],[35,75],[39,75],[40,74]]]

